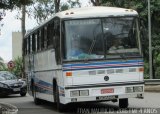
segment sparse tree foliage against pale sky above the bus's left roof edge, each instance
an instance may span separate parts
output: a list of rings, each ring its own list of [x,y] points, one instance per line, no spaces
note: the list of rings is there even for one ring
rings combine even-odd
[[[34,10],[32,9],[32,6]],[[33,16],[37,20],[37,23],[40,24],[57,13],[57,11],[64,11],[69,8],[80,7],[81,4],[79,0],[68,0],[65,3],[60,3],[60,0],[54,0],[54,2],[53,0],[35,0],[32,6],[30,7],[31,12],[34,14]]]

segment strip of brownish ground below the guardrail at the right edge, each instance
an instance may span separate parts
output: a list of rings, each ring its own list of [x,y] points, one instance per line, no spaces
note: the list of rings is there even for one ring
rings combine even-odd
[[[160,92],[160,85],[145,85],[145,92]]]

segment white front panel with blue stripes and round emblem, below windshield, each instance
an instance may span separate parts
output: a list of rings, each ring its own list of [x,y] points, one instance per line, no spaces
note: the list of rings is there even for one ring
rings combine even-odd
[[[143,68],[142,60],[118,63],[93,62],[64,65],[63,75],[67,72],[72,73],[72,76],[66,77],[66,85],[143,81],[143,72],[139,72],[139,69]]]

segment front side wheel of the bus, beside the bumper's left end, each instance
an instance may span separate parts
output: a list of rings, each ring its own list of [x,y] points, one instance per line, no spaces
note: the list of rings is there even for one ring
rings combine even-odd
[[[59,112],[63,112],[63,111],[64,111],[64,104],[61,104],[61,103],[60,103],[58,85],[56,86],[55,98],[56,98],[57,110],[58,110]]]

